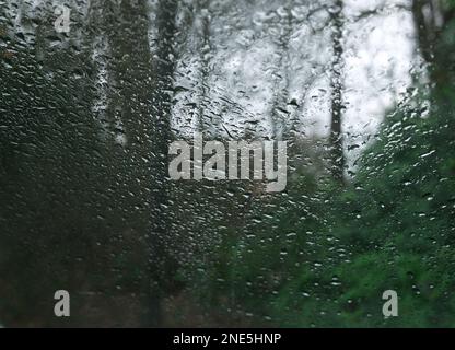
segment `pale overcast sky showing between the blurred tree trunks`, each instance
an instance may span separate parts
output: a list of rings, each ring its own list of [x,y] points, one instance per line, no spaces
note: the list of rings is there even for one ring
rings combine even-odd
[[[153,45],[156,1],[149,1],[150,40]],[[345,33],[347,110],[343,130],[347,145],[361,147],[349,155],[351,162],[369,136],[377,130],[385,112],[410,84],[415,63],[412,19],[408,11],[396,8],[408,2],[345,0],[348,23]],[[39,0],[24,2],[23,11],[32,11],[40,3]],[[51,3],[75,5],[77,1],[52,0]],[[319,11],[308,18],[308,3],[315,5],[315,1],[288,3],[292,4],[288,7],[291,12],[283,0],[212,0],[210,11],[197,12],[192,27],[189,31],[185,28],[188,39],[176,74],[176,85],[182,88],[175,96],[176,130],[191,135],[200,110],[195,106],[201,106],[205,122],[215,130],[215,135],[229,137],[229,131],[231,136],[242,138],[245,131],[250,131],[258,137],[270,137],[270,112],[277,94],[287,89],[288,102],[295,100],[301,107],[281,101],[279,107],[284,122],[296,118],[294,131],[302,137],[328,135],[331,46],[330,27],[324,25],[327,12]],[[84,13],[86,7],[81,8],[81,1],[78,4],[79,12]],[[382,10],[376,15],[355,20],[360,13],[374,9]],[[12,13],[16,25],[26,15],[21,11]],[[206,15],[210,23],[210,47],[205,51],[200,38]],[[180,18],[185,18],[184,12]],[[285,37],[289,23],[292,31],[287,40],[289,49],[284,52],[280,39]],[[108,49],[105,45],[100,47]],[[101,55],[96,54],[103,52],[94,52],[94,59],[100,60]],[[205,90],[200,84],[201,58],[209,62],[210,72]],[[103,62],[98,62],[98,67],[100,79],[106,81]]]

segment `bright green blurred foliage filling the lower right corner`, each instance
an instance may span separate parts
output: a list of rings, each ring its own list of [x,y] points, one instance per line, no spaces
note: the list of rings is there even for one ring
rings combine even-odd
[[[445,78],[386,117],[349,185],[303,168],[275,199],[283,213],[222,245],[213,305],[229,291],[230,307],[278,326],[455,327],[454,33],[434,63]],[[386,290],[397,318],[382,314]]]

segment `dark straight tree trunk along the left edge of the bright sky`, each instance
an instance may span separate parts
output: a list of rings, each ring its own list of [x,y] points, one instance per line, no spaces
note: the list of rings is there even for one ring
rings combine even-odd
[[[151,230],[151,276],[155,276],[159,289],[175,293],[180,289],[176,282],[177,261],[166,246],[172,246],[171,213],[168,210],[168,147],[173,135],[171,116],[174,97],[174,72],[176,68],[175,39],[178,0],[160,0],[156,13],[158,42],[153,60],[152,89],[152,230]]]

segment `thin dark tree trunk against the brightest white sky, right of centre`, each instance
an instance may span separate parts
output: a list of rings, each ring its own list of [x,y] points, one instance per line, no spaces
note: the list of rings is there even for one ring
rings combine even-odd
[[[332,35],[331,45],[334,59],[331,63],[331,127],[330,127],[330,159],[331,172],[336,179],[343,182],[345,152],[342,142],[342,68],[343,68],[343,2],[336,0],[331,11]]]

